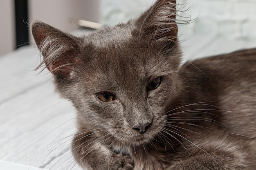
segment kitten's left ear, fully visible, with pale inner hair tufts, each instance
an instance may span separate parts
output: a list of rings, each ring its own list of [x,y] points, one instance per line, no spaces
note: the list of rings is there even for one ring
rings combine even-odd
[[[64,33],[43,22],[35,22],[31,26],[32,35],[43,55],[46,68],[57,78],[65,79],[70,76],[79,60],[78,38]]]

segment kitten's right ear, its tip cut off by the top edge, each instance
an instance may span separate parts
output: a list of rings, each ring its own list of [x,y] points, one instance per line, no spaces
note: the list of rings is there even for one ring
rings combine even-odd
[[[177,41],[176,0],[157,0],[138,19],[140,34],[168,46]]]

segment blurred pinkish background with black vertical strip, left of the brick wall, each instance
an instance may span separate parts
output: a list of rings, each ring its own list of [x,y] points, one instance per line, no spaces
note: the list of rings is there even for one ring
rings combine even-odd
[[[1,0],[0,55],[32,41],[27,34],[26,13],[29,22],[41,20],[63,31],[73,31],[77,26],[69,24],[69,18],[99,22],[99,0]]]

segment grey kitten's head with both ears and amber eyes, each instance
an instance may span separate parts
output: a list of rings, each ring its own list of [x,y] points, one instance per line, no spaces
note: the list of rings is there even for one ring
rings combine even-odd
[[[175,2],[157,0],[136,20],[81,38],[34,22],[32,33],[59,93],[86,126],[141,144],[158,135],[177,97]]]

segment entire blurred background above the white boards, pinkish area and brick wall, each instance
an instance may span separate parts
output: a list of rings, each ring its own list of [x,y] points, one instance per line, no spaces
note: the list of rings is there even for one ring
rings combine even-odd
[[[26,44],[18,39],[27,36],[24,29],[28,30],[28,20],[42,20],[64,31],[73,31],[77,27],[67,22],[70,18],[113,25],[135,18],[153,2],[155,0],[1,0],[0,55]],[[180,15],[197,18],[180,27],[179,33],[185,38],[214,35],[256,39],[256,0],[178,0],[177,3],[178,9],[188,9]]]

